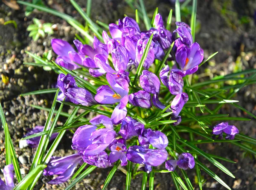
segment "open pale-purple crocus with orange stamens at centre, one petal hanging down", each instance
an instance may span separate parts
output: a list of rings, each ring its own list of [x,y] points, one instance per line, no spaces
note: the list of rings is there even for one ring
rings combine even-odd
[[[108,85],[103,85],[97,89],[95,100],[101,104],[119,104],[114,109],[111,119],[113,124],[119,124],[127,114],[126,105],[128,103],[129,84],[127,80],[117,77],[114,74],[106,74]]]

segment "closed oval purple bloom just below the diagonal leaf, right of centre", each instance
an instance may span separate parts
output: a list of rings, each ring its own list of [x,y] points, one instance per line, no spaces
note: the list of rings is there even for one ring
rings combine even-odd
[[[160,91],[160,80],[158,77],[147,70],[143,70],[140,75],[140,85],[144,91],[151,94],[159,94]]]

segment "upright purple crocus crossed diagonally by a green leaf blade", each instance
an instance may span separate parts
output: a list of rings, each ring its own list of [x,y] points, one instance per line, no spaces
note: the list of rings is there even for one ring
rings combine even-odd
[[[135,59],[135,63],[137,65],[139,65],[140,63],[140,60],[143,56],[143,53],[145,51],[145,48],[146,48],[146,45],[148,43],[148,39],[145,39],[145,40],[138,40],[137,42],[137,46],[136,46],[136,59]],[[149,50],[148,50],[148,54],[147,54],[147,57],[145,59],[145,62],[143,63],[143,67],[145,69],[148,69],[150,67],[150,65],[152,65],[152,63],[154,62],[154,48],[153,48],[153,44],[151,42],[150,46],[149,46]]]

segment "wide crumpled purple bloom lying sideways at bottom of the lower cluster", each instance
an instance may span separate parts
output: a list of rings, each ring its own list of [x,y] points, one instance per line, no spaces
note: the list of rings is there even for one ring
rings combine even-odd
[[[131,162],[158,166],[166,161],[168,153],[166,149],[148,149],[135,145],[128,148],[126,155]]]

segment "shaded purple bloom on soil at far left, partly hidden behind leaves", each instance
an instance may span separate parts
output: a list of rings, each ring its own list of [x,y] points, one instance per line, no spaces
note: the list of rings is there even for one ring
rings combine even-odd
[[[26,135],[24,135],[22,138],[25,138],[26,136],[30,136],[36,133],[40,133],[44,130],[44,126],[35,126],[35,128],[29,130]],[[50,141],[56,138],[58,133],[52,133],[52,136],[50,137]],[[27,146],[31,148],[35,148],[38,146],[39,141],[40,141],[41,136],[37,136],[31,139],[26,139],[26,140],[20,140],[20,148],[25,148]]]

